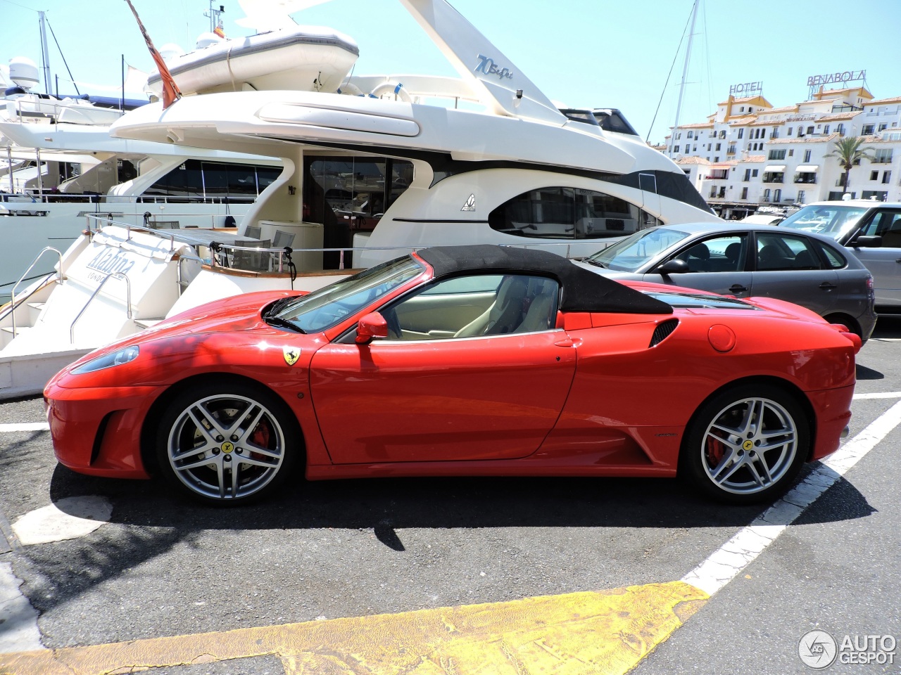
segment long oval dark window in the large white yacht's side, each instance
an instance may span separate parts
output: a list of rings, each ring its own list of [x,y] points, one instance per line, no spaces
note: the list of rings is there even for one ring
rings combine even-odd
[[[623,237],[660,221],[610,194],[544,187],[520,194],[488,214],[491,229],[516,237],[592,239]]]

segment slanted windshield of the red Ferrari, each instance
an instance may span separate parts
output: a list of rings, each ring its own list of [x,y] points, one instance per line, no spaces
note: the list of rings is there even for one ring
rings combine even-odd
[[[423,272],[423,266],[405,256],[370,267],[359,275],[329,284],[278,309],[271,317],[289,321],[305,333],[318,333],[341,322],[381,296]]]

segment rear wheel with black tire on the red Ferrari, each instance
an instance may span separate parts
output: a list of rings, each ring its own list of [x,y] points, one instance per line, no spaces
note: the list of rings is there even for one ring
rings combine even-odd
[[[714,500],[750,504],[787,491],[809,452],[810,425],[795,397],[772,384],[749,383],[696,411],[679,469]]]

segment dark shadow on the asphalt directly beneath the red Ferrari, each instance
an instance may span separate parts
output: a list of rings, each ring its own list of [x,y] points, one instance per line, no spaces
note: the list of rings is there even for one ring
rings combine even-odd
[[[817,464],[808,464],[803,480]],[[873,509],[851,486],[842,520]],[[113,522],[145,527],[207,529],[373,529],[407,527],[743,527],[768,504],[726,506],[694,493],[680,480],[640,478],[383,478],[305,481],[297,477],[257,504],[222,508],[198,504],[162,481],[96,479],[58,466],[54,502],[104,495]],[[393,546],[391,546],[393,547]]]

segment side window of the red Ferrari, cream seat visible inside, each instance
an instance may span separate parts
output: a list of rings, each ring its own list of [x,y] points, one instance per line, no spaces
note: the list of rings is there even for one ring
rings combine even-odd
[[[560,284],[536,275],[470,275],[430,284],[381,311],[388,339],[532,333],[554,327]]]

